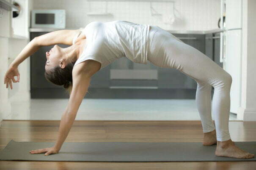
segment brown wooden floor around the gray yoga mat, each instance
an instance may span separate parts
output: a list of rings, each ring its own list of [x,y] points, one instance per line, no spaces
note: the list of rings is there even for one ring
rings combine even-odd
[[[56,141],[60,121],[4,120],[0,149],[14,141]],[[256,122],[230,121],[233,141],[256,141]],[[201,142],[200,121],[75,121],[66,142]],[[212,153],[214,154],[214,153]],[[256,162],[0,161],[0,169],[255,170]]]

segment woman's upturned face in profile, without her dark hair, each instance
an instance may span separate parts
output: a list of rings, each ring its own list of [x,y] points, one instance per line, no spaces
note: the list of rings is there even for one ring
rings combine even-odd
[[[45,53],[47,61],[45,63],[45,70],[52,69],[55,66],[60,65],[61,61],[61,47],[58,45],[54,45],[53,48],[48,52]]]

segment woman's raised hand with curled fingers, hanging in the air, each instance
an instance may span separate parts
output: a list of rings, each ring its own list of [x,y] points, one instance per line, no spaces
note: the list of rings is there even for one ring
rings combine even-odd
[[[17,76],[17,80],[14,79],[14,76]],[[4,77],[4,84],[6,84],[6,88],[8,88],[8,85],[10,84],[10,87],[12,89],[11,80],[13,82],[19,82],[19,70],[17,66],[9,66]]]

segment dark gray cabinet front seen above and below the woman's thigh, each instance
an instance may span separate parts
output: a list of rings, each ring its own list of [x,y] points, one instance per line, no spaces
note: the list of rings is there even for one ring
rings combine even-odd
[[[191,45],[202,53],[205,53],[204,35],[173,34],[184,43]],[[196,89],[197,83],[192,78],[176,69],[158,67],[158,88],[182,88]]]

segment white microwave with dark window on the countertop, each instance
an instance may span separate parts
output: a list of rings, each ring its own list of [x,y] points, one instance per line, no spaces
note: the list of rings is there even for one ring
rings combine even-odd
[[[66,11],[56,10],[32,10],[31,28],[66,28]]]

